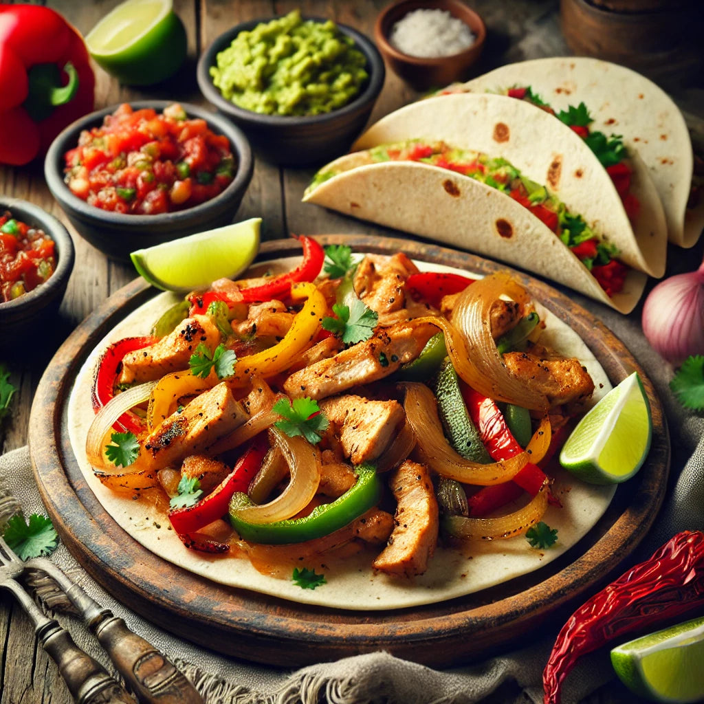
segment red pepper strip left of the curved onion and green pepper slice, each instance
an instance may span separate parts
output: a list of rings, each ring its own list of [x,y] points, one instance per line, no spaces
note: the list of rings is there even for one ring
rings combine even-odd
[[[236,491],[246,493],[268,449],[266,435],[262,433],[256,436],[234,465],[232,472],[208,496],[192,506],[176,508],[169,512],[173,529],[178,534],[192,533],[227,514],[232,495]]]

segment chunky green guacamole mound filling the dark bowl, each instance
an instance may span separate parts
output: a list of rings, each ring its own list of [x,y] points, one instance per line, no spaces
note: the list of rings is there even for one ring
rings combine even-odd
[[[222,95],[266,115],[319,115],[352,101],[366,82],[366,58],[330,20],[298,10],[240,32],[210,67]]]

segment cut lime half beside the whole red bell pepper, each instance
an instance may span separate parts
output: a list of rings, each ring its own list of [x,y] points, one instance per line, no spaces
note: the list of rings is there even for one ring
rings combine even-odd
[[[122,83],[151,85],[176,73],[186,58],[186,30],[172,0],[126,0],[85,38],[90,55]]]

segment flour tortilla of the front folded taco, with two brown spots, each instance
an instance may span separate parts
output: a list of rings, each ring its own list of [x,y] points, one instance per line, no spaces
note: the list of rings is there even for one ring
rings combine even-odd
[[[470,177],[410,161],[370,163],[367,151],[342,156],[326,170],[340,172],[308,191],[304,201],[510,263],[620,313],[630,313],[643,294],[647,276],[631,269],[623,290],[607,296],[539,218]]]

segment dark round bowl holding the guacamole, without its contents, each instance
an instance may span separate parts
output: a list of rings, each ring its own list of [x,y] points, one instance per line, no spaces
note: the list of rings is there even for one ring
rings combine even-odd
[[[235,25],[220,35],[203,52],[198,62],[198,84],[203,96],[243,130],[259,156],[266,161],[287,166],[325,163],[345,153],[364,129],[377,97],[384,86],[384,61],[376,46],[357,30],[336,23],[344,36],[365,58],[367,79],[350,101],[332,111],[318,115],[276,115],[259,113],[235,105],[213,83],[210,68],[217,66],[218,54],[227,49],[241,32],[253,30],[260,23],[276,18],[250,20]],[[325,23],[322,18],[304,21]]]

